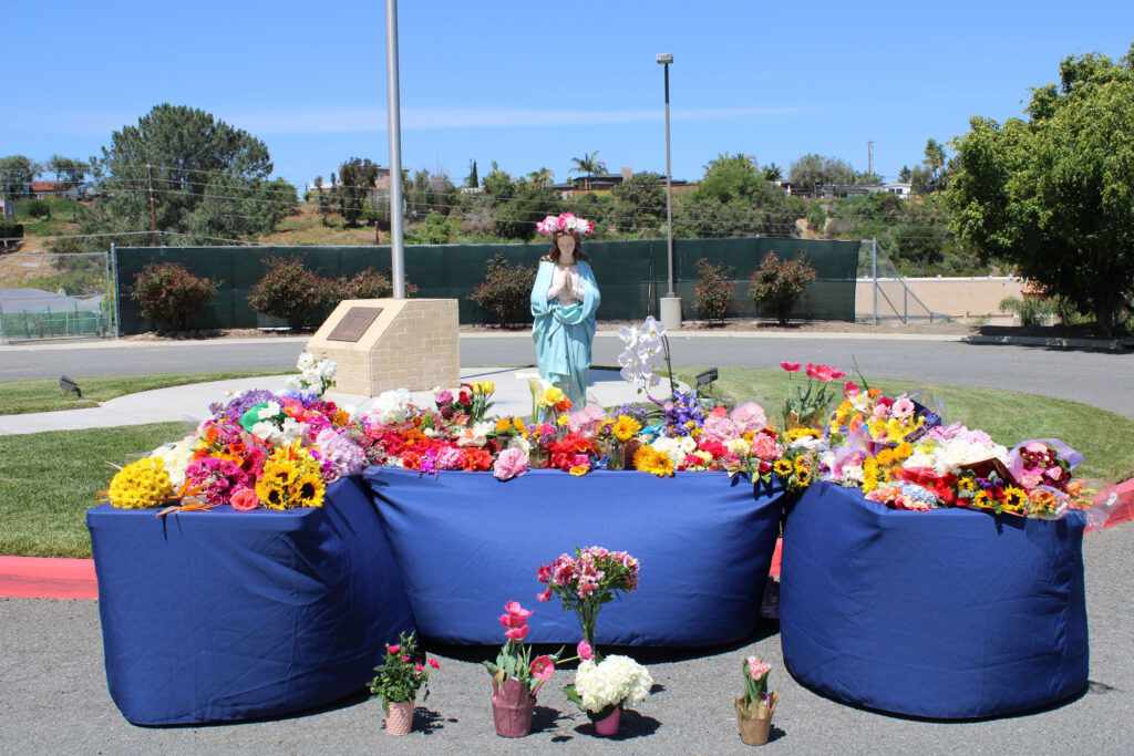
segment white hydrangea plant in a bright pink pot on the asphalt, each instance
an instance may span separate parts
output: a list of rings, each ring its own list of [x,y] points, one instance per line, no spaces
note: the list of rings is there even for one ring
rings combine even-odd
[[[565,687],[564,693],[591,717],[599,734],[618,734],[623,710],[650,695],[653,678],[629,656],[596,657],[585,640],[579,644],[579,656],[583,661],[575,672],[575,683]]]

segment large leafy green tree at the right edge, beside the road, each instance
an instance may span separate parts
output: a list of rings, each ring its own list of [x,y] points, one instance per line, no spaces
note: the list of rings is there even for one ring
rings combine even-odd
[[[1029,120],[970,121],[947,196],[983,261],[1007,261],[1110,333],[1134,304],[1134,45],[1118,63],[1068,57],[1059,74],[1058,88],[1033,91]]]

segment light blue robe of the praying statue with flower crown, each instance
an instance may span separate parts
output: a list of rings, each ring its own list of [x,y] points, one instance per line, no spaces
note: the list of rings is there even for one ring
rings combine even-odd
[[[540,377],[562,389],[578,409],[586,405],[594,313],[599,309],[600,297],[591,264],[583,260],[576,264],[584,297],[582,301],[565,307],[558,299],[548,299],[555,263],[540,261],[535,286],[532,287],[532,315],[535,317],[532,338],[535,340]]]

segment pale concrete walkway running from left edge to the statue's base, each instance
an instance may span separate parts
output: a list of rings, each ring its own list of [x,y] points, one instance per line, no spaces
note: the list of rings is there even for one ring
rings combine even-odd
[[[532,413],[532,393],[526,380],[516,377],[517,373],[534,373],[535,368],[514,367],[463,367],[460,380],[465,383],[493,381],[496,393],[491,413],[497,415],[530,415]],[[146,423],[170,423],[185,421],[196,425],[209,417],[209,405],[221,401],[227,396],[247,391],[248,389],[282,390],[287,375],[271,375],[232,381],[212,381],[209,383],[192,383],[171,389],[155,389],[130,393],[117,399],[110,399],[100,407],[86,409],[65,409],[54,413],[32,413],[27,415],[0,415],[0,435],[17,435],[23,433],[42,433],[44,431],[76,431],[91,427],[116,427],[121,425],[143,425]],[[441,387],[456,389],[456,385]],[[660,392],[657,392],[660,396]],[[370,408],[373,399],[328,391],[327,397],[339,405],[353,405],[361,410]],[[593,369],[587,389],[591,401],[602,407],[617,407],[626,401],[641,400],[644,397],[635,392],[635,387],[627,383],[616,371]],[[413,394],[414,402],[420,407],[433,404],[432,391],[417,391]]]

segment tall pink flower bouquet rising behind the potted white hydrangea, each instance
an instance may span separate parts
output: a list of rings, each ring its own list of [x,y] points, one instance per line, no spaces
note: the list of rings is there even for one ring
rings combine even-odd
[[[555,595],[562,602],[564,611],[574,611],[583,640],[593,647],[599,610],[619,594],[633,593],[637,588],[638,567],[638,560],[624,551],[575,546],[575,557],[562,554],[551,564],[542,564],[536,570],[540,583],[548,586],[539,600],[551,601]]]

